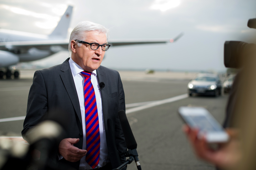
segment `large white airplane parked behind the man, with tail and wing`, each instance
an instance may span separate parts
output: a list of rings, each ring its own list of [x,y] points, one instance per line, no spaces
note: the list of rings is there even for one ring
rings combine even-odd
[[[61,50],[68,50],[69,39],[67,31],[69,28],[72,6],[68,6],[66,12],[62,15],[58,25],[50,35],[39,35],[28,32],[0,29],[0,78],[5,75],[6,78],[19,77],[19,71],[10,70],[10,66],[19,62],[35,61],[46,58]],[[177,41],[183,33],[180,33],[174,39],[126,39],[109,40],[111,46],[124,46],[132,44],[150,44],[167,43]]]

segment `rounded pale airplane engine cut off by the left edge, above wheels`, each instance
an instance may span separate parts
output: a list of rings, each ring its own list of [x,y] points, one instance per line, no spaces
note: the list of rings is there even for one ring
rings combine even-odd
[[[0,67],[8,67],[19,62],[19,57],[15,54],[0,50]]]

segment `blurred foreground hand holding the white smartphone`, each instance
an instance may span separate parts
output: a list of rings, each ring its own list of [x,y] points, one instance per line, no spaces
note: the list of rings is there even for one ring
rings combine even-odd
[[[241,159],[240,142],[238,140],[237,131],[228,129],[227,133],[230,136],[230,141],[219,144],[218,149],[209,147],[206,138],[198,139],[198,129],[191,129],[187,125],[183,127],[188,140],[190,141],[195,154],[209,163],[212,163],[223,169],[232,169],[237,166]]]

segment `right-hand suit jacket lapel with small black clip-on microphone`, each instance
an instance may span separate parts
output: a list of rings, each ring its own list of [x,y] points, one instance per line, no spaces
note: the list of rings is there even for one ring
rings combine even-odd
[[[102,71],[101,66],[96,70],[97,79],[100,82],[103,82],[105,86],[108,84],[106,73]],[[107,129],[107,120],[108,120],[108,91],[107,88],[102,88],[101,90],[101,101],[102,101],[102,111],[105,129]]]

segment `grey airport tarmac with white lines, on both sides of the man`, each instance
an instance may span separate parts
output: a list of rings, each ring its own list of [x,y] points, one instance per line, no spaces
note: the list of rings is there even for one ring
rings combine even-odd
[[[2,135],[21,136],[22,118],[26,115],[33,73],[34,70],[21,70],[20,79],[0,80]],[[188,97],[187,83],[195,74],[120,71],[125,92],[126,114],[137,142],[142,169],[215,169],[214,166],[194,156],[182,132],[183,122],[177,110],[180,106],[188,105],[206,107],[222,123],[228,95]],[[131,169],[137,169],[135,162],[127,166],[127,170]]]

